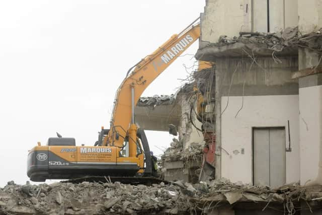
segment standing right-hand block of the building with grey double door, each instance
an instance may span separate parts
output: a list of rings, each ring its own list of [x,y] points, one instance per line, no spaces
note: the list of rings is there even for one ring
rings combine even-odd
[[[206,1],[198,60],[215,63],[216,177],[278,187],[316,177],[321,1]]]

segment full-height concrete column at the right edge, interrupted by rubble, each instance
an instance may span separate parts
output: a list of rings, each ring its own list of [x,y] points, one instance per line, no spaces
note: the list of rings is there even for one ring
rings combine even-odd
[[[322,27],[322,0],[298,0],[300,35]],[[313,68],[320,55],[307,48],[298,52],[299,69]],[[299,78],[300,182],[322,185],[322,74]]]

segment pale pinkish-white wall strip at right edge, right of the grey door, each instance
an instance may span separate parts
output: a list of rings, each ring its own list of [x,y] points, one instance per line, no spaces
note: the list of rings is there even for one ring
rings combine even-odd
[[[299,98],[300,178],[303,185],[317,176],[322,138],[322,86],[300,88]]]

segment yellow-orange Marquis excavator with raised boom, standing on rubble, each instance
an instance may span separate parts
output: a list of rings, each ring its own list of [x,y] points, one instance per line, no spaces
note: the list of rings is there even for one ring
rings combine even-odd
[[[110,129],[102,127],[95,146],[76,146],[74,138],[58,133],[46,146],[38,142],[28,154],[30,180],[152,176],[148,142],[135,123],[134,108],[147,86],[199,38],[198,20],[127,71],[116,92]]]

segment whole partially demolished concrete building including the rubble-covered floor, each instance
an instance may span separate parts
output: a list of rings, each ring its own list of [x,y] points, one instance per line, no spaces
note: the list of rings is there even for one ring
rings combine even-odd
[[[321,214],[321,29],[321,0],[206,0],[195,56],[212,66],[135,110],[144,129],[178,128],[173,182],[9,182],[0,214]],[[205,156],[216,179],[196,183]]]

